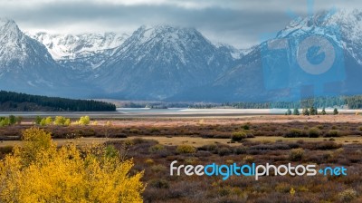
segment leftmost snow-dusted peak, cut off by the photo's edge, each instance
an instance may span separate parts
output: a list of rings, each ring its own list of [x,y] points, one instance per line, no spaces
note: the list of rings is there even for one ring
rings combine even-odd
[[[13,20],[0,19],[1,89],[50,92],[65,82],[63,75],[42,43],[23,34]]]

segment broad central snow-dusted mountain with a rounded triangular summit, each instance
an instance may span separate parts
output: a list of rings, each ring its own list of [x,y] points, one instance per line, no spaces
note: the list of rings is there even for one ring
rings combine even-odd
[[[194,28],[141,26],[101,65],[94,80],[110,93],[165,99],[213,82],[233,61],[231,53],[221,52]]]

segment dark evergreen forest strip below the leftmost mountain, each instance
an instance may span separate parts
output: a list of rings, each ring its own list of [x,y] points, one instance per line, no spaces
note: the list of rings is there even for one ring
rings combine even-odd
[[[5,91],[0,91],[0,107],[3,111],[116,111],[116,106],[108,102],[71,100]]]

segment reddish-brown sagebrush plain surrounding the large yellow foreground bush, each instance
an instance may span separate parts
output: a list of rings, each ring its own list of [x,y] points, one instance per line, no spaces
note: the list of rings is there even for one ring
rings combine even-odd
[[[91,119],[90,119],[91,120]],[[252,116],[90,121],[62,126],[32,119],[0,128],[1,156],[35,125],[59,145],[105,143],[144,171],[144,202],[361,202],[362,116]],[[344,166],[348,176],[170,176],[170,163]]]

